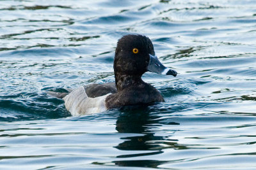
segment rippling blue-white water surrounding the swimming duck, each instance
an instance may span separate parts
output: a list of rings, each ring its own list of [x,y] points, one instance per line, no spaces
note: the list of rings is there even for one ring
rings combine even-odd
[[[0,169],[256,169],[256,1],[0,1]],[[123,35],[165,103],[71,117],[47,90],[114,81]]]

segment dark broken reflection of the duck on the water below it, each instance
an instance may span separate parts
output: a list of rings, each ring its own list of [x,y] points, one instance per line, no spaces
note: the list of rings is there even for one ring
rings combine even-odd
[[[118,158],[137,158],[136,160],[120,160],[115,161],[114,163],[118,166],[138,167],[157,167],[160,164],[163,164],[165,161],[143,159],[143,156],[163,153],[163,148],[166,148],[166,145],[164,144],[164,140],[166,141],[166,139],[164,139],[165,136],[156,136],[153,130],[159,125],[159,122],[157,121],[159,116],[152,114],[152,110],[150,110],[148,106],[129,106],[122,108],[121,112],[122,113],[116,120],[116,131],[120,133],[131,133],[132,136],[122,138],[124,142],[118,144],[115,148],[118,150],[145,150],[147,152],[118,155]],[[173,124],[177,123],[173,122]],[[168,143],[168,148],[175,145],[177,146],[177,140],[166,141],[166,143]]]

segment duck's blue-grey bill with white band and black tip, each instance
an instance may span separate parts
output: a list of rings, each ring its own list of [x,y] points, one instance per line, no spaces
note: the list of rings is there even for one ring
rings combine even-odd
[[[149,55],[148,71],[163,74],[177,76],[177,72],[173,69],[165,67],[156,57],[156,55]]]

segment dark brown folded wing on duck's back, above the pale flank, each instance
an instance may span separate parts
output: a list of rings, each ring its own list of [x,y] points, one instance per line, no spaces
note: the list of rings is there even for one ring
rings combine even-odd
[[[100,97],[106,94],[114,94],[117,92],[115,83],[104,83],[104,84],[90,84],[84,86],[85,92],[88,97]]]

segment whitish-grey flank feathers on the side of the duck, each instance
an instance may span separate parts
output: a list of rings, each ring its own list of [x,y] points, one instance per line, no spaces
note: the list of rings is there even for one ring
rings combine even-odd
[[[79,116],[106,111],[105,99],[107,96],[109,94],[95,98],[88,97],[84,87],[81,86],[65,96],[63,100],[71,115]]]

